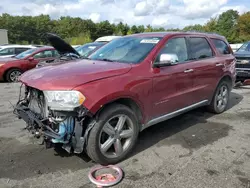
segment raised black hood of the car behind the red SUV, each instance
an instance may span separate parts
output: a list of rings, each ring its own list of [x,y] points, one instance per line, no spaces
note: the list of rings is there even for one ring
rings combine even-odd
[[[65,42],[62,38],[59,36],[53,34],[53,33],[46,33],[46,38],[49,41],[49,43],[60,53],[60,54],[76,54],[80,56],[80,54],[67,42]]]

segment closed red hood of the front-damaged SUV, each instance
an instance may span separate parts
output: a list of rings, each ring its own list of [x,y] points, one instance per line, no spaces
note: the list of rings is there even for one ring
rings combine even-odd
[[[20,81],[39,90],[71,90],[88,82],[125,74],[131,67],[117,62],[69,61],[29,70]]]

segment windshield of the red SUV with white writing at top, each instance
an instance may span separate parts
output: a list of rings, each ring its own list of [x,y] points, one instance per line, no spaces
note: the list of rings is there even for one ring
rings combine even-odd
[[[92,60],[139,63],[161,40],[161,37],[122,37],[112,40],[92,55]]]

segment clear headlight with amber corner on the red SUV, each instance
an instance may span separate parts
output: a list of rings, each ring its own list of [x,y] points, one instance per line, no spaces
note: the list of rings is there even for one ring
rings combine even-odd
[[[85,96],[75,90],[71,91],[44,91],[47,105],[51,110],[73,111],[85,101]]]

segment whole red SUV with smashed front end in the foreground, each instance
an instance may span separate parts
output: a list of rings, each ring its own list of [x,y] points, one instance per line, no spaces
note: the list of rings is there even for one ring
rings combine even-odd
[[[232,50],[217,34],[129,35],[89,59],[23,74],[15,114],[47,146],[117,163],[149,126],[201,106],[225,111],[235,77]]]

